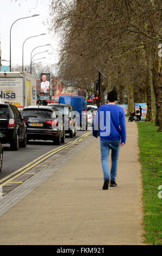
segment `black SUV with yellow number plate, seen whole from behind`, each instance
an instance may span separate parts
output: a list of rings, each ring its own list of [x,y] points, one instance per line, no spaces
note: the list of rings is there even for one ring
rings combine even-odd
[[[27,118],[27,140],[53,141],[60,145],[65,142],[65,129],[59,111],[55,107],[26,106],[21,113]]]

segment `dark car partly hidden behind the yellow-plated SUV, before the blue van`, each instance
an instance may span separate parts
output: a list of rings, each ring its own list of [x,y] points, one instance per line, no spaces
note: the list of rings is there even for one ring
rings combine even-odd
[[[48,106],[57,107],[58,111],[63,115],[65,133],[69,133],[70,138],[76,136],[77,120],[73,106],[63,103],[49,103]]]

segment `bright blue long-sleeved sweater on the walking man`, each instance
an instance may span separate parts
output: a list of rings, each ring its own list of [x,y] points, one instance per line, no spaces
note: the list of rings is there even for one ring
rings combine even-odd
[[[126,143],[126,119],[123,108],[113,104],[99,107],[93,126],[93,136],[96,138],[98,130],[101,141],[121,139],[121,143]]]

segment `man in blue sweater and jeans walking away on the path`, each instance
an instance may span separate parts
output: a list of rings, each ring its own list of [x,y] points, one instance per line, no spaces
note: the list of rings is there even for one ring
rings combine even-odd
[[[113,89],[108,93],[108,105],[98,108],[94,126],[93,136],[98,137],[98,130],[101,145],[101,161],[103,170],[103,190],[117,186],[117,159],[120,147],[126,143],[126,120],[122,107],[115,105],[117,92]],[[111,149],[111,170],[109,174],[108,157]]]

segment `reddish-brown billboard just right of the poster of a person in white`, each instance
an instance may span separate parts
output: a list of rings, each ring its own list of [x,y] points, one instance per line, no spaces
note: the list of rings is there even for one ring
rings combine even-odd
[[[72,86],[65,87],[61,80],[54,78],[54,97],[61,95],[76,96],[76,92]]]

